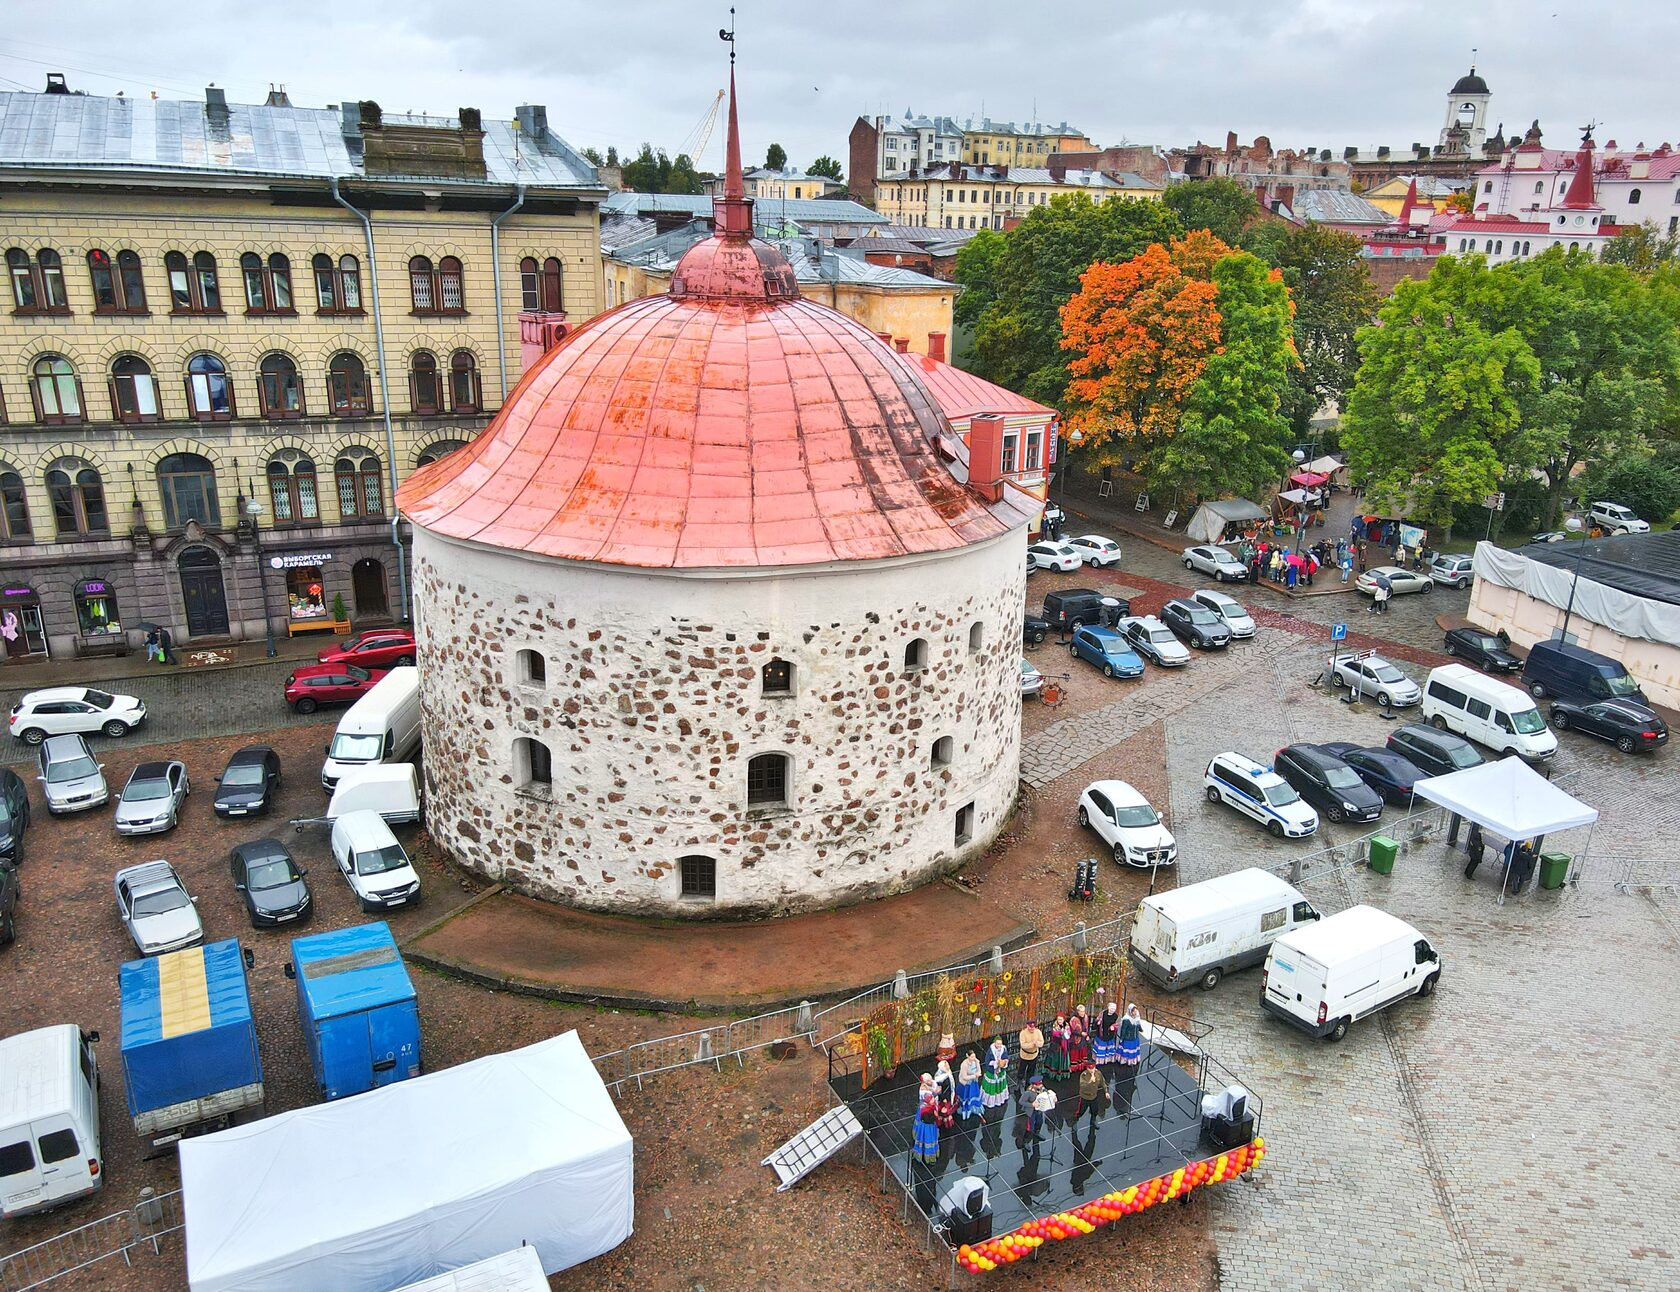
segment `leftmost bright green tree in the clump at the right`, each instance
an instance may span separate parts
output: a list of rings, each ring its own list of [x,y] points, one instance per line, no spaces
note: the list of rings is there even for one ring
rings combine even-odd
[[[1359,333],[1347,465],[1374,506],[1420,524],[1450,528],[1455,506],[1494,492],[1507,464],[1537,452],[1524,444],[1522,405],[1539,363],[1520,334],[1485,328],[1460,302],[1487,277],[1480,259],[1443,262],[1401,282]]]

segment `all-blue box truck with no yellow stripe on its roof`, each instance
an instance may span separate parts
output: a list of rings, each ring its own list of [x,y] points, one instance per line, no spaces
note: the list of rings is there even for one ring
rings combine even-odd
[[[420,1075],[420,1008],[388,924],[294,937],[286,973],[323,1099]]]

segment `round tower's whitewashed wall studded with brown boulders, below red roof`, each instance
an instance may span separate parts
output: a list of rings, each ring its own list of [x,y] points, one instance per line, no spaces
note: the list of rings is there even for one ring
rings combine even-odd
[[[1013,806],[1023,580],[1020,533],[724,576],[417,529],[430,833],[480,875],[598,911],[746,916],[909,889],[981,852]],[[922,669],[906,667],[914,638]],[[521,650],[543,655],[541,684],[521,680]],[[773,659],[791,696],[763,692]],[[529,783],[521,738],[551,751],[551,786]],[[764,753],[790,758],[788,801],[749,808]],[[682,897],[684,855],[716,859],[716,899]]]

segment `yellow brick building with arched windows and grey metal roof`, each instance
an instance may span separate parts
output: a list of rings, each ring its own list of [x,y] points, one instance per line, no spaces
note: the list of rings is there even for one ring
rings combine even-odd
[[[546,111],[13,92],[0,138],[0,659],[405,618],[396,484],[603,306]]]

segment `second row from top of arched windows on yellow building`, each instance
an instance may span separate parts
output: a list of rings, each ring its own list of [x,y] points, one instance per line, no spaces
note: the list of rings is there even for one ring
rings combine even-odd
[[[237,415],[234,378],[220,356],[203,353],[186,361],[183,375],[186,412],[200,422],[228,422]],[[111,417],[116,422],[158,422],[163,418],[158,378],[138,355],[119,355],[108,375]],[[351,351],[339,351],[326,366],[328,413],[368,417],[373,400],[368,370]],[[40,355],[29,370],[29,393],[35,420],[50,427],[91,420],[76,366],[62,355]],[[408,356],[408,407],[420,417],[477,413],[484,407],[479,366],[470,349],[449,356],[445,370],[430,349]],[[297,418],[307,413],[304,381],[297,363],[284,351],[264,355],[257,363],[257,412],[265,418]]]

